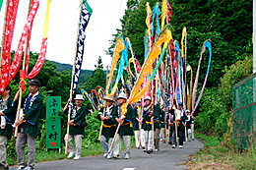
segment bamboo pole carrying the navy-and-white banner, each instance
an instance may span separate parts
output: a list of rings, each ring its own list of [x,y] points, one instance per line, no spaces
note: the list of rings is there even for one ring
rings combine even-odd
[[[83,8],[83,1],[81,2],[81,12]],[[81,19],[81,16],[80,16]],[[80,19],[78,22],[78,28],[77,28],[77,42],[76,42],[76,48],[75,48],[75,57],[74,57],[74,63],[73,63],[73,69],[72,69],[72,78],[71,78],[71,85],[70,85],[70,93],[69,97],[72,98],[72,89],[73,89],[73,84],[74,84],[74,75],[75,75],[75,66],[76,66],[76,58],[77,58],[77,44],[78,44],[78,34],[79,34],[79,25],[80,25]],[[71,115],[71,107],[69,107],[69,112],[68,112],[68,122],[70,121],[70,115]],[[67,136],[66,136],[66,145],[65,145],[65,154],[68,153],[68,142],[69,142],[69,127],[70,125],[67,125]]]

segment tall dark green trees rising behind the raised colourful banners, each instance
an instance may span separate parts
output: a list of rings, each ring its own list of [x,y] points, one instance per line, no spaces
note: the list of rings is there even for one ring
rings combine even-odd
[[[144,37],[147,26],[146,3],[153,9],[158,0],[128,0],[125,15],[121,19],[122,28],[110,40],[107,54],[112,55],[114,43],[118,35],[129,37],[137,59],[144,61]],[[180,41],[182,28],[186,27],[187,61],[194,73],[197,70],[198,60],[205,40],[210,39],[213,46],[212,65],[208,79],[208,87],[219,86],[225,66],[230,66],[244,54],[252,53],[252,2],[246,0],[168,0],[172,7],[171,29],[174,39]],[[249,42],[249,45],[248,45]],[[199,86],[204,82],[207,72],[208,52],[204,55],[201,64]]]

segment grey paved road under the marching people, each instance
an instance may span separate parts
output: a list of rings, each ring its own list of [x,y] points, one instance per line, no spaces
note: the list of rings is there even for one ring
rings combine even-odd
[[[184,144],[183,148],[171,148],[168,143],[160,142],[160,151],[147,154],[142,149],[132,149],[131,158],[106,159],[102,155],[82,157],[80,160],[65,159],[36,163],[37,170],[77,170],[77,169],[96,169],[96,170],[169,170],[186,169],[181,165],[186,162],[186,155],[193,155],[204,147],[204,143],[198,140]],[[11,167],[11,170],[16,169]]]

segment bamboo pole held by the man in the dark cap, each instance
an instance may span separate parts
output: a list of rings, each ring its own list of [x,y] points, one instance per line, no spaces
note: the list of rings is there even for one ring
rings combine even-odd
[[[31,12],[31,4],[32,4],[32,1],[30,1],[30,4],[29,4],[29,14]],[[26,38],[26,42],[25,42],[25,49],[24,49],[24,57],[23,57],[23,68],[22,70],[25,71],[25,65],[26,65],[26,59],[27,59],[27,50],[28,50],[28,45],[29,45],[29,41],[28,41],[28,38],[29,38],[29,32],[30,30],[28,30],[27,32],[27,38]],[[17,117],[16,117],[16,122],[20,119],[20,113],[21,113],[21,106],[22,106],[22,99],[23,99],[23,90],[22,90],[22,87],[20,86],[19,87],[19,103],[18,103],[18,110],[17,110]],[[15,133],[14,133],[14,137],[17,138],[18,136],[18,127],[15,127]]]

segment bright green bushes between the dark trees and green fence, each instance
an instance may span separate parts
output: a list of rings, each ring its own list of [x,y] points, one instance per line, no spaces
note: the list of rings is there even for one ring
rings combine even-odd
[[[205,134],[216,134],[219,137],[229,129],[227,121],[232,104],[232,86],[252,74],[252,57],[238,60],[229,68],[225,67],[220,87],[206,88],[200,101],[199,115],[196,117],[196,128]]]

